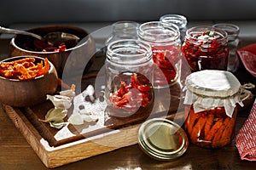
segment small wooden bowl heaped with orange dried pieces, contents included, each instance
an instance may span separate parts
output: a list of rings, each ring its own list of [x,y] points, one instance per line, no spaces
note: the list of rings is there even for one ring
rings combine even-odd
[[[55,94],[57,85],[55,66],[47,58],[16,56],[0,62],[0,102],[4,105],[38,105],[46,94]]]

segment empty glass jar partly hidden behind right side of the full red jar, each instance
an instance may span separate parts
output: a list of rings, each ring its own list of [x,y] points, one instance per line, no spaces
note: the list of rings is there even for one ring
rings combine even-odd
[[[236,54],[236,49],[239,45],[239,27],[234,24],[228,24],[228,23],[218,23],[213,25],[213,27],[216,27],[218,29],[221,29],[223,31],[226,31],[228,33],[228,47],[230,50],[229,55],[229,61],[228,61],[228,71],[236,72],[238,66],[239,66],[239,59]]]

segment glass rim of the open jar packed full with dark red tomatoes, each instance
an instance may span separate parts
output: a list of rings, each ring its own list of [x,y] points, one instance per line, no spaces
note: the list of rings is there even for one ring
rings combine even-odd
[[[223,31],[221,29],[218,29],[213,26],[194,26],[189,28],[189,30],[186,31],[186,39],[192,42],[198,42],[197,37],[192,37],[190,34],[191,32],[197,32],[197,33],[202,33],[204,31],[215,31],[220,33],[222,37],[219,37],[217,40],[218,42],[228,42],[228,33],[226,31]]]

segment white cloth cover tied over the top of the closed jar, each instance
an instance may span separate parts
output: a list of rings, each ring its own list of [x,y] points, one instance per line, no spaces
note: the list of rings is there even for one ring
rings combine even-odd
[[[195,112],[224,106],[232,116],[236,103],[241,106],[241,83],[230,71],[204,70],[191,73],[186,78],[184,104],[194,106]]]

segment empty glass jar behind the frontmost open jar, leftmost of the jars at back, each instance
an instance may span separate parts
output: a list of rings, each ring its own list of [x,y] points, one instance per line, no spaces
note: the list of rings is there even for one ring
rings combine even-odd
[[[118,21],[113,23],[112,34],[108,36],[105,45],[108,46],[110,42],[122,39],[138,39],[137,30],[139,24],[134,21]]]

